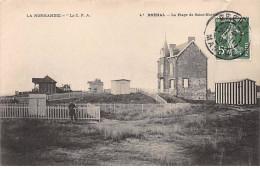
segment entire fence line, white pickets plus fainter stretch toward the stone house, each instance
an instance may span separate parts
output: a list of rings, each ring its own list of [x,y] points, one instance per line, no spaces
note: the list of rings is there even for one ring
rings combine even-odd
[[[162,113],[168,110],[182,109],[189,103],[167,104],[76,104],[78,119],[100,121],[100,112],[127,114],[127,113]],[[28,105],[0,104],[0,118],[42,118],[42,119],[69,119],[68,104],[56,104],[38,107],[37,113],[30,113]]]

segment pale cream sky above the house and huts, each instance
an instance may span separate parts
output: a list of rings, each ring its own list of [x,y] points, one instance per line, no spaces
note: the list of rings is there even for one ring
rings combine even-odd
[[[246,8],[245,8],[246,6]],[[260,1],[6,0],[0,3],[0,95],[30,91],[32,78],[49,75],[57,86],[88,90],[88,81],[129,79],[131,88],[157,88],[157,60],[168,44],[188,36],[208,58],[208,86],[250,78],[260,84]],[[250,18],[250,60],[219,61],[204,44],[209,16],[147,17],[148,13],[216,13],[232,10]],[[88,14],[37,18],[34,14]],[[141,17],[140,14],[145,14]]]

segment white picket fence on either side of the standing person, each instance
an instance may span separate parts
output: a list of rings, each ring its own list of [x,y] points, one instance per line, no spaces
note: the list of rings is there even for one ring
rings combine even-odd
[[[37,107],[37,113],[31,113],[30,109],[32,108],[23,104],[0,104],[0,118],[69,119],[68,106]],[[100,121],[100,108],[93,105],[78,107],[76,115],[81,120]]]

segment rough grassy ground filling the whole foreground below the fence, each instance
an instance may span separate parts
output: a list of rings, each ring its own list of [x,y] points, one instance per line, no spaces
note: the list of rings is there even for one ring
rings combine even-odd
[[[223,105],[183,104],[101,117],[101,123],[2,119],[1,164],[78,165],[71,161],[74,154],[80,165],[124,165],[130,157],[139,165],[259,165],[258,107],[241,113]]]

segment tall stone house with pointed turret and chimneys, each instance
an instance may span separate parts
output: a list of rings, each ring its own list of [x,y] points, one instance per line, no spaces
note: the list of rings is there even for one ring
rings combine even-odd
[[[168,46],[166,40],[158,60],[158,92],[189,100],[207,99],[207,57],[195,43]]]

